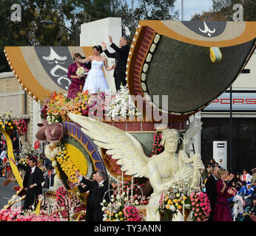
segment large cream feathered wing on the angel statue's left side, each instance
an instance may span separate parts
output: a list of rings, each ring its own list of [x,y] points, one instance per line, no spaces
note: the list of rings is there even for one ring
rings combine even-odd
[[[135,137],[90,117],[73,113],[68,116],[82,126],[81,131],[94,139],[95,145],[107,149],[107,154],[112,155],[113,159],[118,159],[117,163],[127,175],[147,177],[146,164],[149,157],[145,155],[141,143]]]

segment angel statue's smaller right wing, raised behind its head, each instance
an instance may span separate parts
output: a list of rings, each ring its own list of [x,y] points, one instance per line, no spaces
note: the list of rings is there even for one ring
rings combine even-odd
[[[202,124],[203,124],[203,122],[200,122],[199,124],[197,124],[195,117],[194,117],[193,121],[189,125],[189,128],[186,130],[185,135],[184,135],[184,140],[183,140],[186,153],[190,153],[191,150],[189,147],[194,142],[194,139],[193,139],[194,136],[201,131]]]

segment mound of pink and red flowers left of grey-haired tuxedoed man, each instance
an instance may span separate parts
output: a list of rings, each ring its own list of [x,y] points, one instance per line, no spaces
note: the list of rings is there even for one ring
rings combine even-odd
[[[53,206],[53,215],[60,214],[64,218],[70,215],[70,218],[75,218],[75,215],[85,210],[85,204],[73,192],[67,191],[64,186],[58,187],[56,190],[56,201]]]

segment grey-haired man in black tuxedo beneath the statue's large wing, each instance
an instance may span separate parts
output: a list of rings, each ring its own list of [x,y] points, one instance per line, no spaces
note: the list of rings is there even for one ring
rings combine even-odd
[[[103,213],[101,208],[101,202],[103,201],[104,194],[107,190],[112,190],[112,185],[106,179],[104,171],[98,170],[95,174],[96,181],[90,181],[83,178],[82,181],[87,185],[86,190],[92,191],[91,201],[87,202],[87,218],[89,221],[102,221]],[[79,180],[78,180],[78,184]],[[104,198],[107,202],[110,202],[110,194],[107,192]]]

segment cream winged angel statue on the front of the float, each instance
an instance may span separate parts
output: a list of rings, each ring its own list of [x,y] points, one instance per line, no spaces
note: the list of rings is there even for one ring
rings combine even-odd
[[[162,191],[178,183],[181,187],[183,184],[189,184],[190,188],[197,187],[204,165],[200,154],[196,153],[189,158],[188,153],[192,138],[201,130],[201,124],[195,125],[193,121],[189,125],[183,147],[178,153],[176,151],[181,139],[178,131],[164,130],[161,141],[164,151],[149,158],[141,143],[131,134],[89,117],[72,113],[69,113],[69,117],[82,126],[81,131],[94,139],[95,145],[107,149],[107,154],[118,159],[117,163],[127,175],[149,178],[154,192],[146,206],[146,221],[160,221],[158,206]]]

